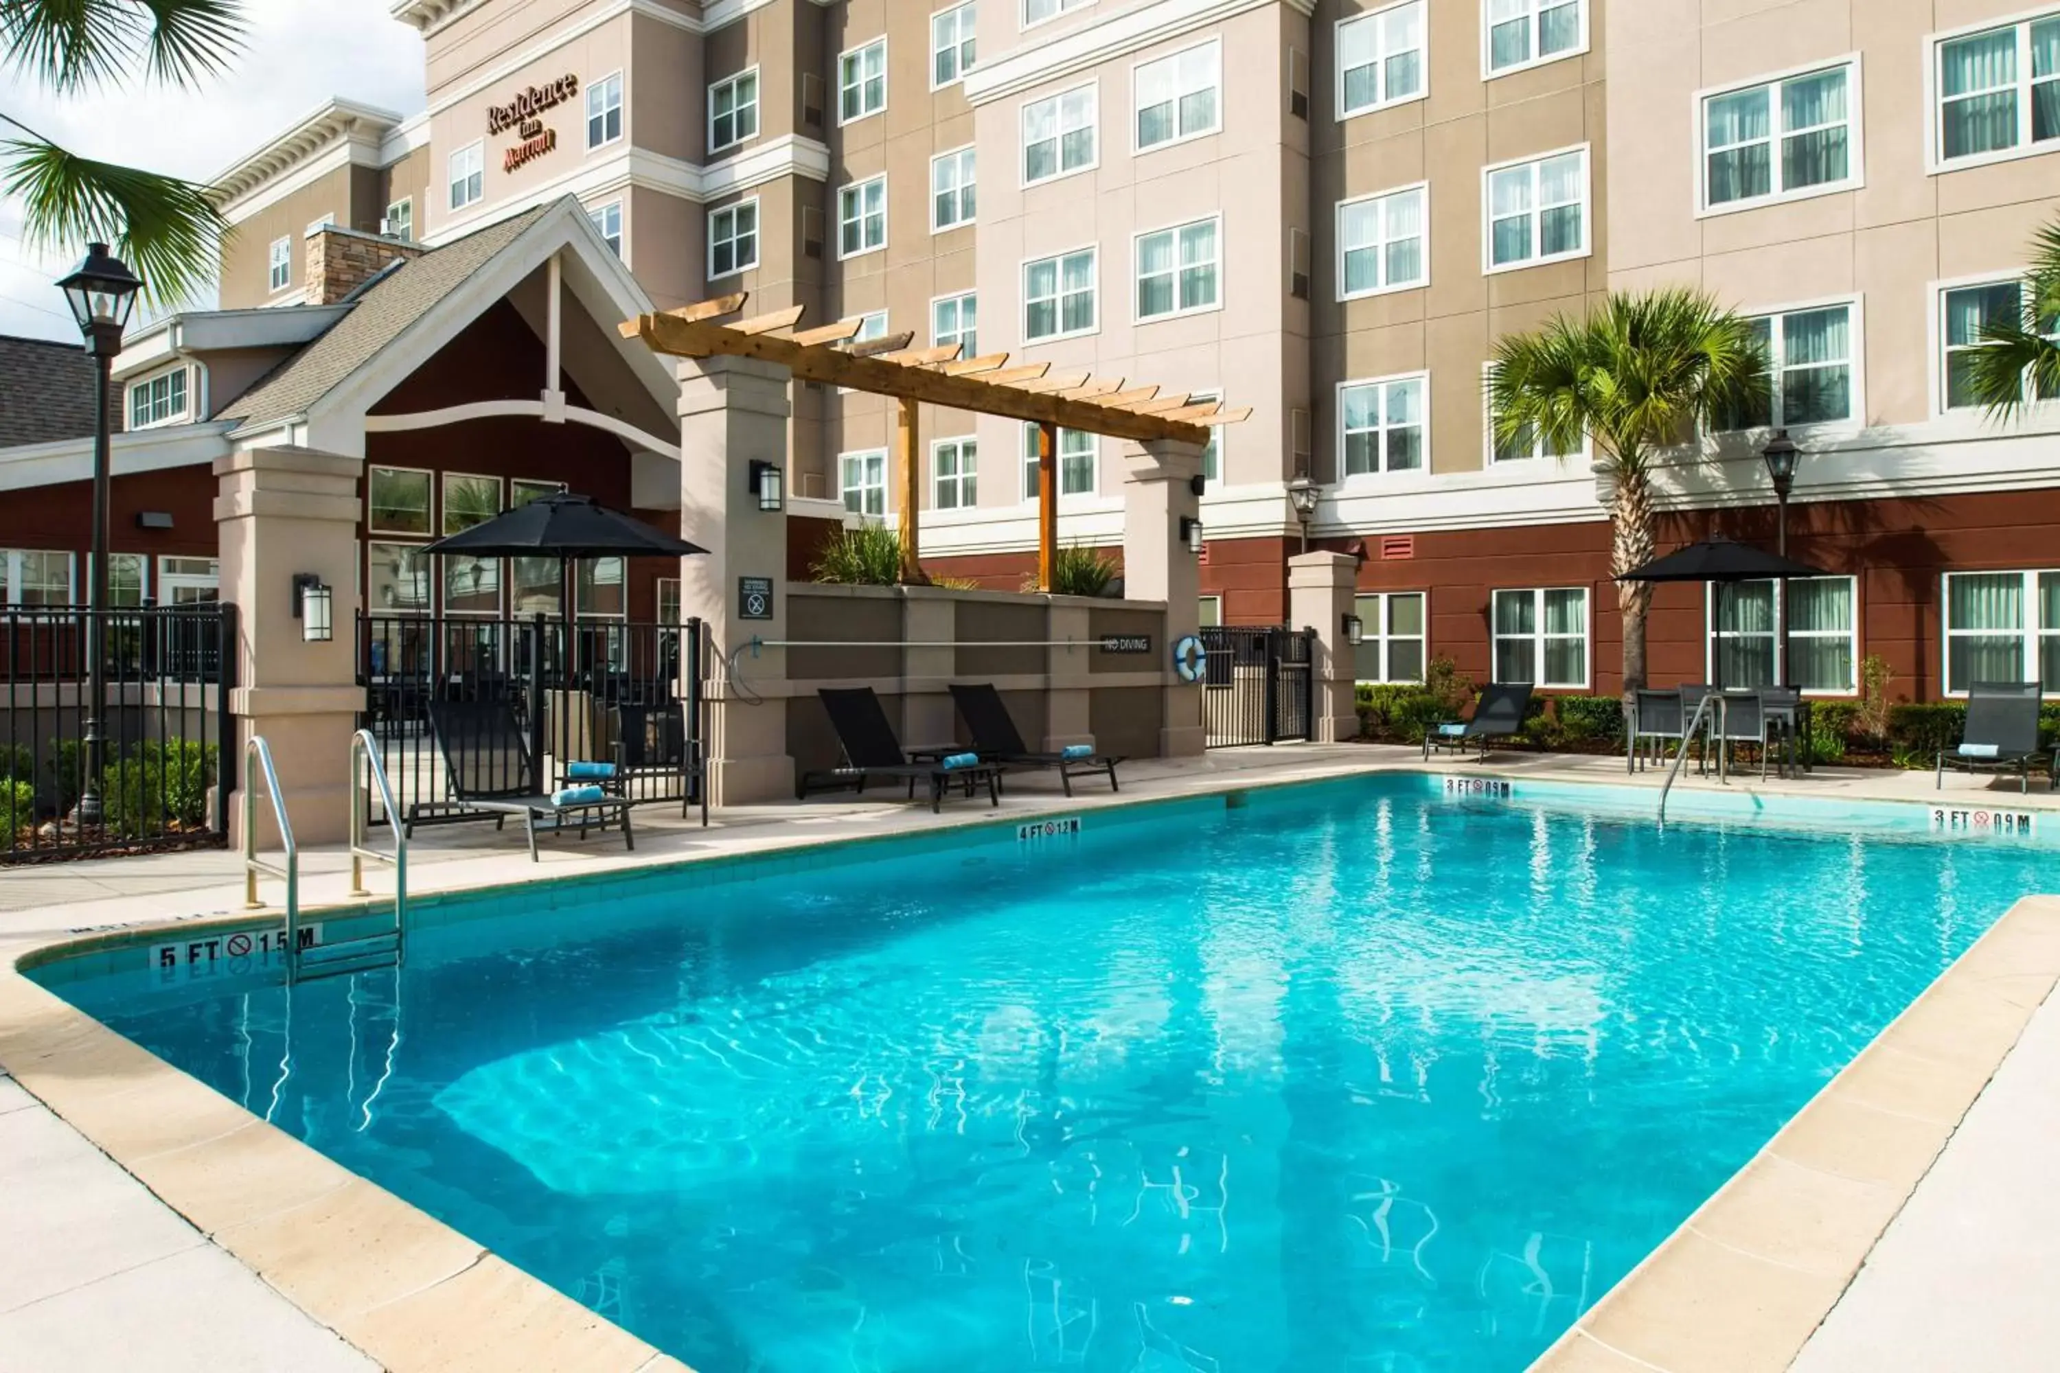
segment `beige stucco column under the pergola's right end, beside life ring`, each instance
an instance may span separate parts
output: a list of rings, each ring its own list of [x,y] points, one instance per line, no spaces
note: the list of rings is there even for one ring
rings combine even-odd
[[[1172,646],[1201,628],[1201,562],[1180,541],[1180,521],[1201,519],[1199,443],[1154,438],[1123,453],[1123,595],[1166,601],[1166,642],[1158,646],[1166,673],[1160,758],[1199,758],[1207,745],[1201,685],[1172,671]]]

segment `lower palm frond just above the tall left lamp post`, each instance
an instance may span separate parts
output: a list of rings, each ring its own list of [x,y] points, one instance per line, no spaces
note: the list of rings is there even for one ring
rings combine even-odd
[[[70,253],[113,243],[152,307],[179,305],[212,278],[229,222],[206,187],[66,152],[54,142],[0,142],[0,193],[23,202],[25,239]]]

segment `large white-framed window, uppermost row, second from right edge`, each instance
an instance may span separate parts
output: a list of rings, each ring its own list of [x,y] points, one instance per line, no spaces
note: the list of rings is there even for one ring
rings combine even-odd
[[[1860,60],[1702,97],[1702,208],[1747,210],[1860,185]]]

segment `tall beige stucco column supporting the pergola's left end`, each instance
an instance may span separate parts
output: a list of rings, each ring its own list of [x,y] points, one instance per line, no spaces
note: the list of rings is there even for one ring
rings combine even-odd
[[[793,795],[787,753],[787,515],[758,508],[752,461],[787,463],[789,373],[756,358],[680,362],[680,537],[709,550],[680,560],[680,613],[709,626],[709,801]],[[744,578],[770,587],[766,618],[744,618]],[[737,653],[740,683],[723,661]]]

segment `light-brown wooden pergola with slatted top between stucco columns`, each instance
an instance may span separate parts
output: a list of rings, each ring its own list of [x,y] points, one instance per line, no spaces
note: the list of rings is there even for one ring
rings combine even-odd
[[[859,319],[799,329],[805,307],[729,321],[750,292],[702,301],[676,311],[639,315],[620,325],[622,338],[641,338],[653,352],[680,358],[758,358],[803,381],[890,395],[900,403],[894,422],[894,465],[900,486],[902,580],[923,583],[917,511],[923,500],[923,463],[917,453],[917,408],[923,403],[991,414],[1036,424],[1038,471],[1038,587],[1051,591],[1059,556],[1059,430],[1149,443],[1209,443],[1217,424],[1250,418],[1250,408],[1224,410],[1222,401],[1162,395],[1158,387],[1125,387],[1121,379],[1088,373],[1053,373],[1051,362],[1009,366],[1009,354],[960,358],[960,346],[915,348],[913,333],[853,344]]]

